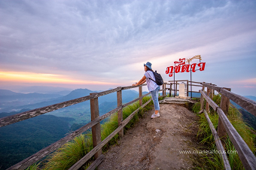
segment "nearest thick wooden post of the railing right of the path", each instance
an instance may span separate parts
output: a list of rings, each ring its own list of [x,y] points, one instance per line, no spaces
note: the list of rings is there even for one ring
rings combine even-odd
[[[230,88],[224,88],[225,90],[231,90]],[[226,96],[221,95],[221,110],[224,112],[224,114],[228,114],[228,108],[230,105],[230,99],[228,99]],[[221,118],[218,117],[218,136],[222,140],[222,144],[224,145],[224,141],[226,141],[227,138],[227,132],[224,128],[223,123],[221,122]]]

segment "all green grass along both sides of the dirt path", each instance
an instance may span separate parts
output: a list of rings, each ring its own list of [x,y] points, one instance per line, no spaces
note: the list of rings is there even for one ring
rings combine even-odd
[[[143,103],[147,102],[150,98],[151,97],[149,96],[145,97],[143,99]],[[220,105],[221,96],[214,96],[213,101],[215,101],[217,105]],[[127,129],[132,127],[139,120],[139,117],[143,116],[145,111],[150,110],[151,105],[153,105],[153,102],[145,106],[145,108],[141,109],[138,114],[135,114],[133,120],[131,120],[130,123],[128,123],[124,127],[124,132],[126,132]],[[139,102],[136,102],[133,105],[129,105],[126,108],[123,108],[123,120],[126,119],[126,117],[128,117],[130,114],[132,114],[133,111],[136,111],[137,108],[139,108]],[[194,113],[198,113],[200,111],[200,102],[194,104],[192,111],[194,111]],[[214,137],[212,135],[211,129],[209,128],[207,120],[204,117],[204,114],[197,115],[200,117],[200,127],[197,132],[197,138],[200,140],[200,143],[203,144],[203,146],[205,146],[201,149],[217,150],[215,146]],[[230,105],[227,117],[230,120],[230,123],[233,124],[236,131],[239,132],[239,135],[241,135],[246,144],[248,144],[248,147],[250,147],[252,152],[255,154],[255,133],[243,122],[242,116],[239,113],[239,111],[232,105]],[[215,126],[215,129],[218,129],[218,114],[215,111],[213,111],[211,107],[209,118],[211,119],[212,124]],[[107,138],[108,135],[110,135],[111,132],[114,131],[114,129],[117,129],[117,126],[117,113],[115,113],[111,115],[110,119],[107,122],[101,125],[102,140]],[[111,145],[117,144],[117,139],[118,135],[115,135],[114,138],[112,138],[111,141],[108,142],[108,144],[105,144],[105,146],[102,148],[103,152],[108,150],[108,148]],[[43,169],[68,169],[72,165],[74,165],[75,162],[77,162],[88,152],[90,152],[91,149],[93,149],[92,135],[91,132],[88,132],[87,134],[79,135],[73,141],[60,147],[59,150],[56,150],[56,152],[52,153],[50,156],[47,157],[46,163],[41,162],[40,165],[43,165]],[[235,150],[232,142],[228,137],[225,141],[225,150]],[[242,162],[240,161],[237,153],[230,153],[227,154],[227,156],[232,169],[243,169]],[[198,169],[224,169],[222,160],[218,153],[212,153],[207,155],[205,154],[200,157],[198,162],[200,162],[197,163]],[[83,168],[87,168],[89,165],[90,161],[86,165],[84,165]],[[32,165],[27,169],[38,169],[38,165]]]

